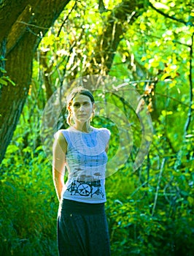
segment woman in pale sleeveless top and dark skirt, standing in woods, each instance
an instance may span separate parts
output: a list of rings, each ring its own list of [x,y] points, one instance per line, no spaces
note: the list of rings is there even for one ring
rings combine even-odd
[[[90,125],[95,101],[87,89],[71,91],[67,110],[69,128],[56,132],[53,144],[53,181],[60,201],[58,252],[60,256],[109,256],[104,183],[110,132]]]

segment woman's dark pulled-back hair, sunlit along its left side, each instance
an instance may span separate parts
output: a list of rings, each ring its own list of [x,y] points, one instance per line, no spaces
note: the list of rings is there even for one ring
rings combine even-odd
[[[69,125],[72,125],[72,122],[71,122],[72,121],[72,114],[71,114],[71,111],[69,111],[69,106],[71,106],[72,101],[73,101],[74,97],[76,97],[77,94],[82,94],[82,95],[88,96],[92,103],[95,102],[95,100],[93,98],[93,94],[88,89],[85,89],[82,86],[74,88],[71,91],[71,93],[66,97],[66,108],[69,112],[69,114],[66,118],[66,122]]]

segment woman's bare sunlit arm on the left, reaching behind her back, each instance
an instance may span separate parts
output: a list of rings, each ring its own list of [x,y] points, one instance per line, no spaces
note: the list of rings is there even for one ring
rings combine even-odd
[[[65,186],[66,148],[66,139],[63,134],[59,132],[58,137],[55,138],[53,143],[53,182],[59,201],[61,200],[61,193]]]

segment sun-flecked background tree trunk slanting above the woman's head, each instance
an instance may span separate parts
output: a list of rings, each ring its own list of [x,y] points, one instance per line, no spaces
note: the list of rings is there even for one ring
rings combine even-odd
[[[142,11],[144,11],[144,1],[138,0],[123,0],[112,10],[104,33],[101,34],[96,45],[96,56],[91,63],[94,67],[93,73],[100,74],[102,69],[105,74],[101,75],[109,73],[117,47],[125,33],[123,23],[126,21],[133,23]]]

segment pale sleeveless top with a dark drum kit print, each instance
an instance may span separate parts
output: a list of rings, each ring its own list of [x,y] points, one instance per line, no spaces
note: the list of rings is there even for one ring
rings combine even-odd
[[[74,127],[61,129],[67,142],[66,168],[68,180],[63,198],[83,203],[104,203],[106,145],[110,132],[106,128],[94,128],[86,133]]]

